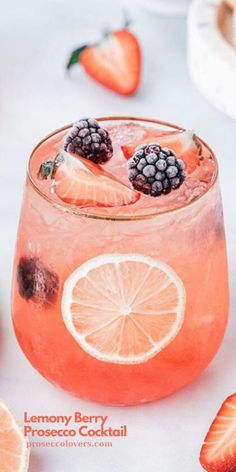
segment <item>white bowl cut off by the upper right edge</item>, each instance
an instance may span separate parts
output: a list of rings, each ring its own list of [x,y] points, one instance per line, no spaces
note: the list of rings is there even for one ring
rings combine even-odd
[[[194,0],[188,16],[188,66],[199,91],[236,119],[236,49],[218,27],[221,0]]]

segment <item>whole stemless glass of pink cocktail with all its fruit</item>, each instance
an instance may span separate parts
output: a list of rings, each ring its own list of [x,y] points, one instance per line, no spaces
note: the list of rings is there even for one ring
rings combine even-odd
[[[85,399],[136,404],[210,362],[228,314],[216,159],[192,131],[79,120],[33,151],[15,256],[26,356]]]

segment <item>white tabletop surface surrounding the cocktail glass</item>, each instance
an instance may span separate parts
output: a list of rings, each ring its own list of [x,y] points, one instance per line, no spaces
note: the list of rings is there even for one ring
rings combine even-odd
[[[127,3],[127,2],[126,2]],[[131,3],[130,3],[131,4]],[[189,472],[202,470],[199,448],[219,404],[236,389],[236,122],[202,98],[186,69],[184,19],[158,18],[134,8],[134,29],[144,50],[139,93],[120,98],[90,82],[79,70],[64,72],[68,51],[118,26],[121,3],[109,0],[11,0],[1,2],[1,292],[0,395],[22,419],[31,414],[107,414],[128,424],[128,437],[112,448],[34,449],[30,472]],[[191,385],[161,402],[132,408],[86,403],[44,380],[14,337],[10,285],[14,242],[27,157],[45,133],[81,115],[131,114],[194,128],[216,151],[227,231],[231,321],[208,369]]]

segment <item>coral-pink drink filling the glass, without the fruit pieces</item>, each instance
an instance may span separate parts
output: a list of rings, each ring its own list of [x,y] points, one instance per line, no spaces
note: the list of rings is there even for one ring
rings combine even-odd
[[[104,167],[129,185],[127,161],[120,146],[136,139],[141,143],[149,135],[152,141],[153,129],[157,135],[166,131],[155,126],[107,123],[114,157]],[[38,182],[36,177],[39,165],[57,154],[63,135],[60,132],[44,141],[30,161],[31,180],[28,178],[24,194],[13,279],[13,322],[18,341],[39,372],[80,397],[128,405],[169,395],[208,365],[227,321],[227,261],[215,158],[203,145],[204,159],[169,195],[142,195],[128,206],[81,210],[60,202],[50,193],[50,183]],[[71,335],[62,316],[66,280],[83,264],[100,255],[106,259],[109,254],[161,261],[184,287],[186,305],[180,330],[143,362],[99,358]],[[40,297],[22,296],[22,258],[36,259],[56,274],[55,298],[45,303]],[[132,290],[130,279],[127,284]],[[91,286],[91,298],[96,300],[96,287],[94,291],[93,295]],[[113,339],[115,343],[115,334]]]

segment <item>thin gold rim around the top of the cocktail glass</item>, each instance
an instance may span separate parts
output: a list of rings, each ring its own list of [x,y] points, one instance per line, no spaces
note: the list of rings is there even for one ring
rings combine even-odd
[[[108,122],[109,121],[111,121],[111,122],[112,121],[138,121],[138,122],[149,123],[149,124],[154,124],[154,125],[166,126],[166,127],[172,128],[172,129],[176,129],[177,131],[186,131],[186,128],[183,128],[183,127],[178,126],[176,124],[170,123],[168,121],[161,121],[161,120],[157,120],[155,118],[144,118],[144,117],[139,117],[139,116],[138,117],[137,116],[105,116],[105,117],[96,118],[96,120],[101,121],[101,122],[106,122],[106,121],[108,121]],[[204,193],[202,193],[201,195],[199,195],[195,199],[191,200],[190,202],[187,202],[187,203],[181,205],[178,208],[172,208],[172,209],[163,210],[163,211],[155,211],[154,213],[142,214],[142,215],[140,214],[140,215],[117,215],[116,216],[116,215],[109,215],[107,213],[106,214],[96,214],[96,212],[90,212],[90,211],[88,212],[88,211],[86,211],[86,209],[83,210],[82,208],[76,208],[76,207],[69,206],[64,202],[57,202],[57,201],[53,200],[53,198],[49,194],[47,194],[42,189],[40,189],[40,187],[37,185],[37,183],[35,182],[33,176],[31,175],[30,164],[33,160],[35,151],[43,143],[45,143],[48,139],[52,138],[56,134],[58,134],[62,131],[66,131],[66,130],[70,129],[72,126],[73,126],[73,123],[62,126],[61,128],[56,129],[55,131],[51,132],[50,134],[46,135],[43,139],[41,139],[38,142],[38,144],[36,144],[36,146],[33,148],[32,152],[30,154],[30,157],[28,159],[28,164],[27,164],[27,176],[28,176],[29,182],[30,182],[31,186],[33,187],[33,189],[44,200],[46,200],[48,203],[52,204],[56,208],[59,208],[59,209],[63,210],[64,212],[72,213],[73,215],[77,215],[77,216],[80,216],[80,217],[92,218],[92,219],[98,219],[98,220],[111,220],[111,221],[149,220],[149,219],[163,217],[165,215],[170,215],[170,214],[177,213],[179,211],[184,210],[185,208],[188,208],[188,207],[196,204],[199,200],[201,200],[201,198],[203,198],[214,187],[215,183],[218,180],[219,166],[218,166],[218,161],[217,161],[216,155],[212,151],[210,146],[202,138],[200,138],[198,135],[196,135],[197,138],[199,139],[199,141],[201,142],[201,144],[203,144],[203,146],[206,147],[208,149],[208,151],[211,153],[211,156],[214,159],[215,164],[216,164],[216,171],[215,171],[215,174],[213,176],[211,184],[209,185],[209,187],[206,189],[206,191]]]

